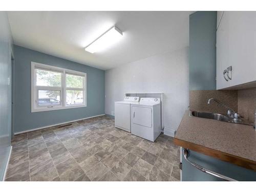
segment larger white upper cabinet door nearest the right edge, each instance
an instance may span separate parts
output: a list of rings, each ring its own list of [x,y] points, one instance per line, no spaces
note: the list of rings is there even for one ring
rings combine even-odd
[[[230,86],[256,80],[256,12],[230,11]]]

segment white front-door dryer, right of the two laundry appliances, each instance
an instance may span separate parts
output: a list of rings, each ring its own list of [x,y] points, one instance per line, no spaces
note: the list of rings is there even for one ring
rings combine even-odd
[[[131,133],[153,142],[161,134],[160,98],[141,98],[131,104]]]

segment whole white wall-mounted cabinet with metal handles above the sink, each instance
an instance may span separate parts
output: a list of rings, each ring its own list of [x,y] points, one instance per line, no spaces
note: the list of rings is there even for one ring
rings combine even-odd
[[[256,82],[256,12],[217,15],[217,90]]]

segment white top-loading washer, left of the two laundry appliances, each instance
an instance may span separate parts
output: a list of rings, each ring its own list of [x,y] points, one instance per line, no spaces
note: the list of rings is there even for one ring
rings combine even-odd
[[[140,97],[124,97],[115,102],[115,127],[131,133],[131,104],[139,103]]]

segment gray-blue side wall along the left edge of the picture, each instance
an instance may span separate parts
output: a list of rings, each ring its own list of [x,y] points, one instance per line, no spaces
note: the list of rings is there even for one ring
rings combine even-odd
[[[11,149],[11,45],[8,16],[0,11],[0,181],[3,180]]]

